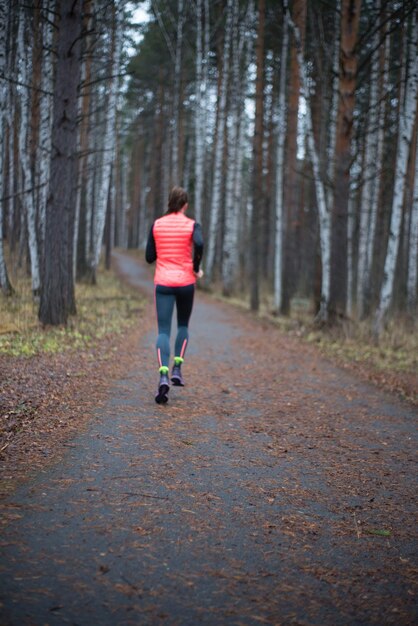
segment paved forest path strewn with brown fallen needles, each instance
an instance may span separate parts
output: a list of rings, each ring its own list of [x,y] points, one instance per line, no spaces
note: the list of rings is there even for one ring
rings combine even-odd
[[[416,623],[416,411],[200,293],[158,406],[151,298],[143,326],[111,401],[3,503],[0,623]]]

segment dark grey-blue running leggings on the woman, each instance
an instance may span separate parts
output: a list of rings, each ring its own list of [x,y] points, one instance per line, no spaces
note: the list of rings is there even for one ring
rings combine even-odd
[[[177,308],[177,336],[174,356],[184,358],[189,341],[188,326],[192,314],[194,290],[194,284],[185,287],[155,286],[155,308],[158,322],[156,347],[159,367],[168,367],[170,362],[171,319],[174,304]]]

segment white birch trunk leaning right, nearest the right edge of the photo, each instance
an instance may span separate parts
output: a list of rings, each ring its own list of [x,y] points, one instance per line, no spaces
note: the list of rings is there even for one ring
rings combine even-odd
[[[418,103],[418,25],[414,14],[411,38],[408,49],[408,72],[400,109],[399,131],[396,151],[395,179],[392,199],[392,211],[389,237],[386,249],[383,281],[380,289],[379,304],[373,320],[373,331],[378,337],[382,331],[384,319],[389,311],[393,296],[396,261],[401,238],[402,208],[408,168],[408,158],[416,108]]]

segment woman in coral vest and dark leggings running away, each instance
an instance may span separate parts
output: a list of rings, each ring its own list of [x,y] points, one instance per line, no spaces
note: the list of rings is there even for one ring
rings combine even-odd
[[[203,254],[203,237],[200,224],[186,217],[187,193],[174,187],[168,198],[168,211],[155,220],[147,241],[147,263],[157,261],[155,268],[155,306],[157,311],[158,337],[157,359],[160,372],[155,401],[168,401],[170,381],[171,318],[174,304],[177,309],[177,336],[174,347],[174,364],[171,371],[173,385],[183,386],[181,365],[189,341],[189,319],[197,278],[203,276],[200,262]]]

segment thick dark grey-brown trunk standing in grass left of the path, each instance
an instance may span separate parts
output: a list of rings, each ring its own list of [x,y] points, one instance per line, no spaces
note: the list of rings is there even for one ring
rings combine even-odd
[[[77,184],[77,91],[81,0],[58,0],[60,14],[52,124],[51,178],[46,208],[45,266],[39,319],[66,324],[75,313],[73,228]]]

